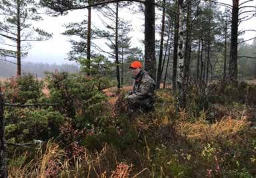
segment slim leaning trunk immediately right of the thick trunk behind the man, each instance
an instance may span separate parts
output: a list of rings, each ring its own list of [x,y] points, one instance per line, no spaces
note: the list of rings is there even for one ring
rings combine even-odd
[[[163,4],[165,4],[165,0],[163,0]],[[165,33],[165,8],[163,8],[162,14],[162,27],[161,27],[161,39],[160,39],[160,51],[159,51],[159,62],[157,68],[157,88],[160,88],[161,84],[161,67],[162,67],[162,58],[163,58],[163,36]]]

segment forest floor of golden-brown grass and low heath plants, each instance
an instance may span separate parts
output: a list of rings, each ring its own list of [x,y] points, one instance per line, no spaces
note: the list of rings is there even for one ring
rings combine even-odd
[[[255,177],[256,80],[249,83],[216,84],[208,106],[192,87],[184,109],[171,90],[160,89],[155,111],[147,114],[128,113],[123,95],[107,88],[110,107],[99,128],[84,133],[65,122],[59,136],[65,146],[50,140],[39,151],[13,156],[9,177]]]

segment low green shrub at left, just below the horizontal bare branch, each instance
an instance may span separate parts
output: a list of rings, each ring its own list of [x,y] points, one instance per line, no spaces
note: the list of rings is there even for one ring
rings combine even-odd
[[[53,108],[18,108],[5,111],[7,141],[22,143],[33,139],[49,139],[59,135],[64,117]]]

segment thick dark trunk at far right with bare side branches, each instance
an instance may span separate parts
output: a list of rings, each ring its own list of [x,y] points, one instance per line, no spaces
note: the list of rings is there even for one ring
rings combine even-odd
[[[231,21],[231,40],[230,40],[230,58],[229,58],[229,80],[237,82],[237,36],[239,21],[239,0],[233,0],[232,21]]]

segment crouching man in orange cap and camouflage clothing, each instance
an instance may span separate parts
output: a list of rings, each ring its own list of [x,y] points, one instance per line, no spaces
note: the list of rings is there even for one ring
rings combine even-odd
[[[142,69],[141,62],[135,60],[129,66],[133,72],[133,91],[127,96],[129,109],[131,111],[143,110],[149,112],[154,110],[155,103],[155,81],[149,73]]]

